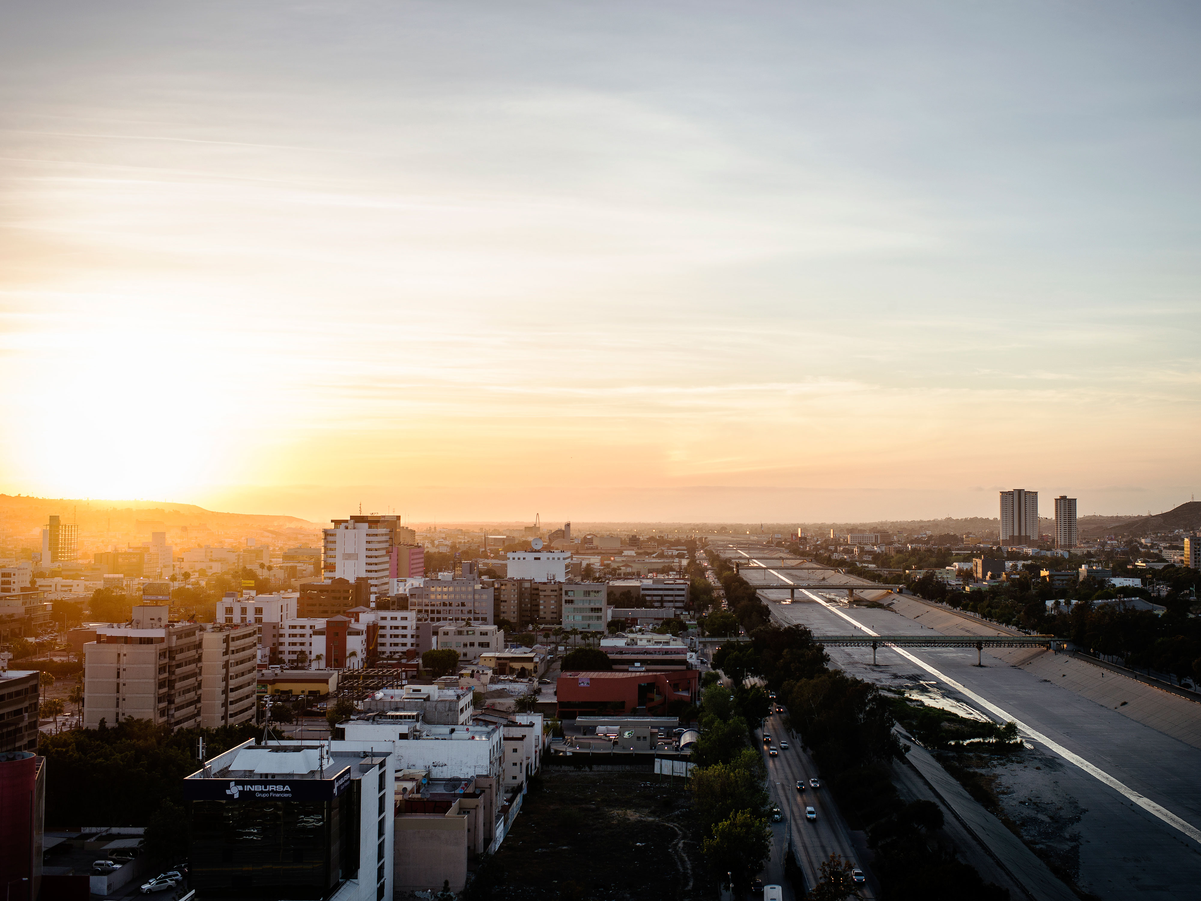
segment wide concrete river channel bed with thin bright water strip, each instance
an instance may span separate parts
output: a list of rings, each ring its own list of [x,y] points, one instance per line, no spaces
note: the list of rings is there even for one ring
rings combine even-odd
[[[741,547],[754,557],[760,549]],[[767,554],[772,556],[769,557]],[[779,550],[763,553],[778,566]],[[790,577],[790,573],[781,573]],[[800,596],[802,592],[797,592]],[[928,628],[889,609],[849,607],[846,591],[765,591],[784,622],[815,634],[855,628],[920,634]],[[841,593],[841,596],[839,596]],[[1029,750],[1002,765],[1000,801],[1027,843],[1101,899],[1201,900],[1201,750],[1165,735],[1027,669],[969,649],[830,648],[833,666],[894,687],[934,688],[993,720],[1016,720]],[[1197,705],[1201,717],[1201,705]]]

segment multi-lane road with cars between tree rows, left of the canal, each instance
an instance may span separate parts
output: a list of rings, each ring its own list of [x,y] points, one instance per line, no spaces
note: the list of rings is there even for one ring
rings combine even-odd
[[[772,736],[773,747],[778,747],[781,740],[788,741],[789,745],[787,751],[779,751],[778,757],[770,757],[766,746],[761,742],[761,733],[757,736],[763,748],[764,759],[767,762],[769,795],[772,804],[778,805],[788,818],[793,845],[796,847],[796,859],[805,871],[808,888],[817,884],[820,878],[819,867],[829,859],[830,854],[839,854],[868,873],[864,897],[877,897],[874,879],[872,879],[868,867],[859,859],[859,852],[852,841],[847,821],[843,819],[833,802],[833,795],[825,787],[809,787],[809,780],[818,777],[817,764],[800,748],[799,740],[794,740],[794,736],[785,733],[784,716],[770,716],[764,724],[764,732]],[[805,782],[803,792],[796,790],[797,780]],[[806,806],[817,810],[817,821],[811,823],[805,818]]]

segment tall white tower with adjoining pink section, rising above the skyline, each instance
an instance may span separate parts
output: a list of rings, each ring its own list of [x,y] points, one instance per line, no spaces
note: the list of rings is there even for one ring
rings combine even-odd
[[[424,550],[418,553],[417,532],[402,526],[400,517],[370,513],[330,521],[334,527],[322,530],[322,568],[327,579],[354,581],[365,575],[371,580],[371,590],[384,595],[389,578],[410,578],[425,573]],[[381,561],[383,569],[380,568]]]

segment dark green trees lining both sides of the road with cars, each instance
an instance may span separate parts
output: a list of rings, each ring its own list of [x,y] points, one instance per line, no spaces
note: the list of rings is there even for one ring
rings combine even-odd
[[[892,784],[892,762],[906,748],[894,732],[895,700],[876,685],[831,668],[825,649],[813,640],[803,626],[764,625],[749,629],[747,643],[722,645],[713,655],[713,666],[734,682],[733,688],[712,685],[705,690],[704,732],[693,751],[700,764],[694,771],[698,816],[709,823],[725,815],[731,804],[742,804],[747,817],[761,822],[761,796],[754,787],[763,784],[763,756],[752,750],[749,729],[755,728],[770,710],[769,692],[787,711],[787,726],[818,764],[829,788],[838,798],[853,829],[865,829],[876,853],[876,872],[886,897],[903,901],[950,901],[982,899],[1003,901],[1008,890],[985,883],[979,872],[960,860],[950,843],[939,835],[942,811],[932,801],[901,800]],[[754,685],[748,680],[754,679]],[[997,727],[998,740],[1009,735]],[[742,771],[745,776],[737,776]],[[727,799],[721,802],[712,800]],[[736,799],[736,800],[729,800]],[[727,806],[723,806],[727,805]],[[724,821],[723,821],[724,822]],[[746,818],[713,835],[715,870],[730,858],[724,848],[729,836],[741,835],[747,869],[743,879],[753,877],[763,865],[761,833]],[[706,853],[709,853],[706,846]],[[846,899],[855,896],[849,879],[848,861],[827,860],[821,866],[821,881],[812,887],[811,897]]]

